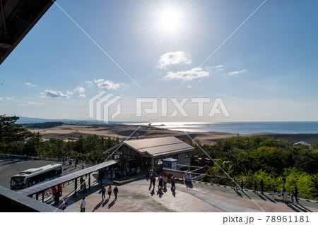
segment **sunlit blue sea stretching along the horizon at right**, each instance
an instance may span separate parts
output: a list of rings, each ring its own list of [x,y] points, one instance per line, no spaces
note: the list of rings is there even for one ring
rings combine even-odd
[[[126,122],[126,125],[143,125],[148,123]],[[184,130],[186,132],[218,131],[227,133],[318,133],[318,121],[275,121],[275,122],[217,122],[217,123],[191,123],[191,122],[161,122],[152,123],[151,126],[169,130]]]

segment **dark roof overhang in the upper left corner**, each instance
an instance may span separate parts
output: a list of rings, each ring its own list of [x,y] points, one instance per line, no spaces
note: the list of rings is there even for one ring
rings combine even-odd
[[[2,0],[0,65],[40,20],[55,0]]]

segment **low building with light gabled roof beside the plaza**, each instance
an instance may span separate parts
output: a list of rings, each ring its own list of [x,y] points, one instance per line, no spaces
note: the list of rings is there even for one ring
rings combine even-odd
[[[162,159],[177,159],[178,164],[190,165],[190,152],[194,147],[175,137],[147,138],[125,140],[104,152],[114,152],[112,159],[123,159],[122,171],[131,171],[134,174],[155,168],[160,171]]]

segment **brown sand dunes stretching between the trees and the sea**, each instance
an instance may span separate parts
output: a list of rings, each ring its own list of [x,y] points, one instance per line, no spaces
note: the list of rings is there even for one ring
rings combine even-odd
[[[39,132],[45,139],[59,139],[59,140],[76,140],[78,137],[83,135],[99,135],[102,137],[112,137],[112,138],[122,138],[126,139],[134,133],[138,126],[126,126],[126,125],[116,125],[116,126],[82,126],[82,125],[67,125],[56,126],[53,128],[30,128],[32,132]],[[235,133],[225,133],[225,132],[187,132],[177,130],[167,130],[164,128],[154,128],[148,126],[141,126],[134,133],[133,138],[136,138],[136,133],[139,133],[139,138],[159,138],[166,136],[175,136],[177,138],[184,139],[194,139],[201,143],[213,144],[216,141],[223,138],[230,138],[236,136]],[[189,135],[189,137],[188,137]],[[289,140],[290,142],[315,142],[318,141],[318,134],[279,134],[279,133],[254,133],[241,136],[253,136],[253,135],[269,135],[273,138],[283,138]]]

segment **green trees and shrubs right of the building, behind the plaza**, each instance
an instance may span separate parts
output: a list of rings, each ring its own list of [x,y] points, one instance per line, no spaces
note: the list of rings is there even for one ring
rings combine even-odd
[[[300,197],[318,198],[318,142],[310,147],[293,146],[287,140],[262,135],[226,138],[215,145],[189,144],[195,147],[192,164],[198,164],[198,157],[213,159],[213,166],[201,162],[207,174],[205,182],[232,186],[228,174],[237,183],[243,178],[250,189],[254,189],[254,181],[263,179],[266,191],[279,193],[285,186],[290,193],[297,186]]]

